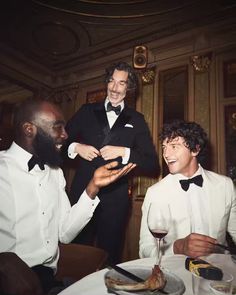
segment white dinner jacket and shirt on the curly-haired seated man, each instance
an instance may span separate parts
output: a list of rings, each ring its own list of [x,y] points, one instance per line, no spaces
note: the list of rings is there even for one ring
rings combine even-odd
[[[149,204],[154,201],[160,206],[170,205],[172,225],[164,238],[165,243],[162,244],[163,253],[166,255],[173,254],[173,244],[176,240],[183,239],[192,232],[211,236],[224,244],[228,230],[235,239],[236,199],[232,181],[225,176],[204,170],[200,165],[193,176],[198,174],[203,175],[203,186],[198,187],[191,183],[188,191],[181,188],[179,180],[186,178],[181,174],[168,174],[148,188],[142,205],[139,240],[141,258],[156,255],[156,241],[147,227]],[[218,189],[214,191],[217,185]]]

